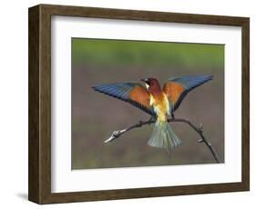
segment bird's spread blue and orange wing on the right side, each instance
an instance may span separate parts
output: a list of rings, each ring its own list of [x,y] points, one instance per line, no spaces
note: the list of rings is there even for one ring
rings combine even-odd
[[[163,92],[168,96],[173,111],[179,107],[189,91],[212,80],[212,78],[213,75],[188,75],[169,78],[163,86]]]

